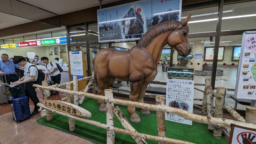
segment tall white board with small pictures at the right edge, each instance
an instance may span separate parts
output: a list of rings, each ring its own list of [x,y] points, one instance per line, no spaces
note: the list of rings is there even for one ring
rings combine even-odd
[[[235,97],[242,100],[256,99],[256,31],[244,32],[239,57]]]

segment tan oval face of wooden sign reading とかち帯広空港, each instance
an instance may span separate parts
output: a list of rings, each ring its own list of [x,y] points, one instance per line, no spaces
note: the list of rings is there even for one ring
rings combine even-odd
[[[44,100],[43,104],[48,108],[52,108],[54,110],[57,110],[57,111],[60,111],[60,112],[66,113],[66,114],[70,114],[70,115],[74,115],[74,116],[81,116],[81,112],[78,109],[76,109],[66,103],[63,103],[61,101]]]

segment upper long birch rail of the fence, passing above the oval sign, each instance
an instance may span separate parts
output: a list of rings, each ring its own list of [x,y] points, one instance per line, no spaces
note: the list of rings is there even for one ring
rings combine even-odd
[[[38,87],[38,88],[47,89],[47,90],[57,90],[59,92],[69,93],[69,94],[84,95],[88,98],[103,100],[106,102],[113,102],[115,104],[120,104],[120,105],[124,105],[124,106],[132,106],[132,107],[136,107],[136,108],[144,108],[144,109],[148,109],[148,110],[167,112],[167,113],[179,115],[188,120],[198,122],[198,123],[203,123],[203,124],[213,124],[213,125],[218,125],[220,127],[231,127],[231,124],[236,124],[236,125],[256,129],[256,124],[247,124],[247,123],[242,123],[242,122],[225,119],[225,118],[215,118],[215,117],[211,117],[211,116],[200,116],[200,115],[196,115],[196,114],[187,112],[182,109],[172,108],[172,107],[165,106],[165,105],[159,106],[159,105],[153,105],[153,104],[147,104],[147,103],[140,103],[137,101],[118,100],[118,99],[114,99],[114,98],[111,99],[111,98],[106,98],[105,96],[100,96],[100,95],[96,95],[96,94],[92,94],[92,93],[75,92],[75,91],[69,91],[69,90],[65,90],[65,89],[61,89],[61,88],[52,88],[52,87],[48,87],[48,86],[46,87],[46,86],[42,86],[42,85],[38,85],[38,84],[33,84],[33,87]]]

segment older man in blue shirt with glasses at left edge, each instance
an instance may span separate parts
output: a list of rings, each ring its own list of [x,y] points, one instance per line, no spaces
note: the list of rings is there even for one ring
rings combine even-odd
[[[20,67],[17,64],[14,64],[12,60],[9,60],[8,54],[1,54],[1,60],[0,60],[0,75],[5,75],[3,76],[3,82],[10,84],[11,82],[16,82],[19,80],[19,78],[15,74],[15,68],[24,70],[22,67]]]

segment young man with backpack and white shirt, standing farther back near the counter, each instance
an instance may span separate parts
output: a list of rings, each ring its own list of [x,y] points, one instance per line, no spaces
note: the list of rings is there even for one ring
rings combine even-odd
[[[45,80],[47,80],[48,75],[51,75],[51,79],[54,82],[54,84],[60,84],[60,72],[62,68],[60,69],[60,65],[55,62],[49,62],[49,59],[47,57],[42,57],[41,60],[43,63],[45,63]],[[59,67],[58,67],[59,65]],[[58,91],[56,91],[53,95],[59,94]]]

